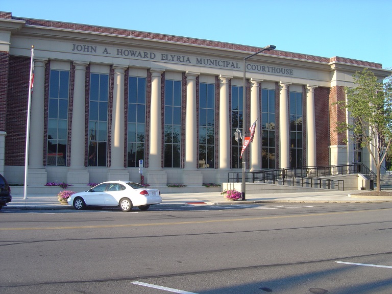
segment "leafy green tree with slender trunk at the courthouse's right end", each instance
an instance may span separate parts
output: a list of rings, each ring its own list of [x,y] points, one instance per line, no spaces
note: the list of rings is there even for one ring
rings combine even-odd
[[[347,122],[338,123],[338,132],[352,131],[356,142],[366,148],[376,166],[380,191],[381,166],[392,140],[392,78],[383,82],[367,68],[353,75],[355,88],[346,88],[347,100],[340,106],[348,110]],[[358,138],[360,138],[358,140]]]

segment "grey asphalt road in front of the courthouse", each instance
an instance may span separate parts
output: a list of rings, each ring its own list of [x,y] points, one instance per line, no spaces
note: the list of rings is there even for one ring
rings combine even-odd
[[[392,203],[0,211],[0,293],[392,293]]]

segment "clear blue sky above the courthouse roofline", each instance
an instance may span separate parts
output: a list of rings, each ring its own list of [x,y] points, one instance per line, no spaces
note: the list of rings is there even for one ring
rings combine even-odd
[[[391,0],[0,0],[13,16],[200,38],[392,68]]]

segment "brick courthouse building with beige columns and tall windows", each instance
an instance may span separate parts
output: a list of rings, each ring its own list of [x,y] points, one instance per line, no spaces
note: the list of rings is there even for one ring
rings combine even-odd
[[[241,171],[236,129],[257,120],[246,170],[371,158],[336,133],[355,71],[381,64],[0,12],[0,174],[23,183],[202,186]],[[315,52],[316,54],[316,52]],[[246,72],[246,108],[243,75]],[[246,134],[247,136],[249,134]],[[143,166],[139,166],[142,162]]]

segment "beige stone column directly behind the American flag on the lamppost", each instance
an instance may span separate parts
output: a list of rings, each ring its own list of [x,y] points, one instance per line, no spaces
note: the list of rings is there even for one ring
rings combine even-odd
[[[261,169],[261,138],[260,138],[260,83],[263,80],[251,79],[251,121],[250,126],[256,119],[256,130],[251,144],[251,170]],[[249,133],[249,135],[251,135]]]

